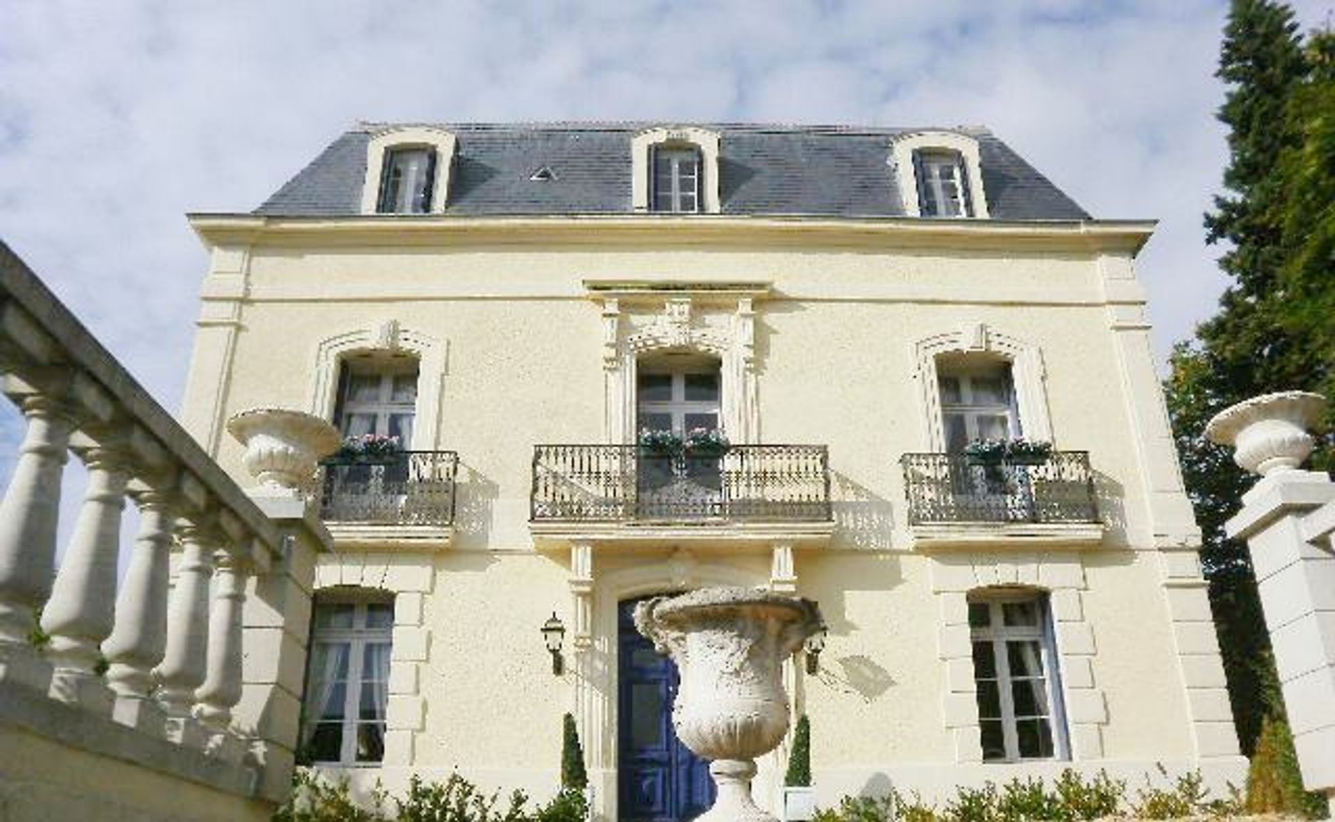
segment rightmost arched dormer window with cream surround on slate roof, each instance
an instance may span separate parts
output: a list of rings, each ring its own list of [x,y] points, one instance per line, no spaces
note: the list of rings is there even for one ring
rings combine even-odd
[[[892,161],[898,172],[904,214],[913,218],[987,218],[979,141],[953,131],[897,137]]]

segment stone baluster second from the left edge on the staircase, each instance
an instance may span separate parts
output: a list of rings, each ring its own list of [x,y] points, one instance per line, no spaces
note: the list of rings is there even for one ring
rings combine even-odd
[[[88,466],[88,487],[41,612],[41,630],[51,635],[51,695],[111,714],[111,690],[95,669],[101,658],[99,646],[115,626],[120,516],[129,470],[125,455],[116,448],[93,446],[80,456]]]

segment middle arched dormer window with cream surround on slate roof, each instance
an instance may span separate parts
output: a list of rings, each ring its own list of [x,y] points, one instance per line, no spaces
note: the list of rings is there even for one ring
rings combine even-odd
[[[718,135],[697,127],[651,128],[630,141],[637,212],[718,214]]]

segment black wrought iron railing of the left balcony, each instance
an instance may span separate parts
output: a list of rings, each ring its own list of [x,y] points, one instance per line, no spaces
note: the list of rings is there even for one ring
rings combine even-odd
[[[454,522],[454,451],[402,451],[324,462],[326,522],[447,526]]]

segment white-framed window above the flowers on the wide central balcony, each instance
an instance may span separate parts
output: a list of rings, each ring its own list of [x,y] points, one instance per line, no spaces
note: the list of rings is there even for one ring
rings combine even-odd
[[[700,366],[642,364],[635,375],[638,431],[676,431],[720,427],[721,379],[718,363]]]

